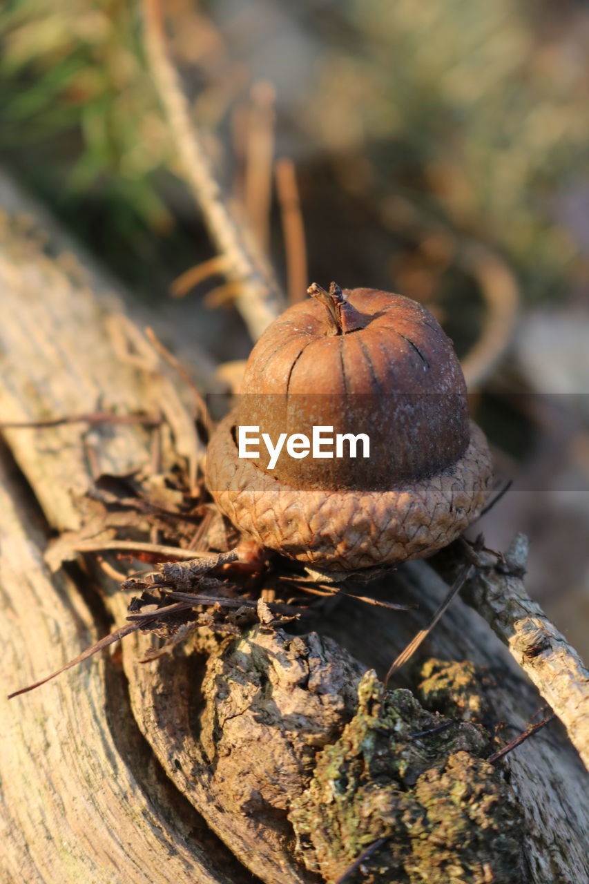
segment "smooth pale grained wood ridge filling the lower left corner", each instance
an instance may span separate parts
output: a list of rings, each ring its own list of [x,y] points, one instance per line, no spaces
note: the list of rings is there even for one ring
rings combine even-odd
[[[46,543],[14,469],[0,461],[0,878],[101,884],[242,880],[203,821],[150,758],[112,659],[94,658],[34,696],[15,683],[65,662],[96,638],[79,587],[50,575]],[[236,864],[233,864],[236,866]]]

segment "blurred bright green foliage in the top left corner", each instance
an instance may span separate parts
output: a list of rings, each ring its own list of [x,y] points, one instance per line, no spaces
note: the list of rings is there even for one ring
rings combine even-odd
[[[13,0],[0,12],[3,156],[131,277],[151,233],[172,226],[157,181],[172,146],[139,24],[126,0]]]

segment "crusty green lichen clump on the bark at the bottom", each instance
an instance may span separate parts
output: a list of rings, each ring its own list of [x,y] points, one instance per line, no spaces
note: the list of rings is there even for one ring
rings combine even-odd
[[[386,692],[374,672],[358,699],[289,814],[305,865],[335,881],[386,838],[349,884],[516,884],[519,820],[482,757],[485,730],[425,711],[409,690]]]

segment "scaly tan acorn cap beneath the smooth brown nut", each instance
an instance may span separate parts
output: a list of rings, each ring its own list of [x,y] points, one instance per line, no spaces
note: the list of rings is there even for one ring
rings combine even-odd
[[[420,559],[451,543],[477,518],[493,483],[486,438],[451,466],[382,491],[302,490],[238,457],[236,415],[210,440],[207,484],[218,507],[257,543],[326,571]]]

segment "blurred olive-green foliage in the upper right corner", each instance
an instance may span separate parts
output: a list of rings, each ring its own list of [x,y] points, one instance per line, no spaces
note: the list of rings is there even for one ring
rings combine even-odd
[[[564,6],[349,0],[362,49],[322,57],[310,110],[326,145],[375,164],[383,196],[499,245],[524,294],[568,287],[577,243],[558,200],[589,184],[589,16]]]

